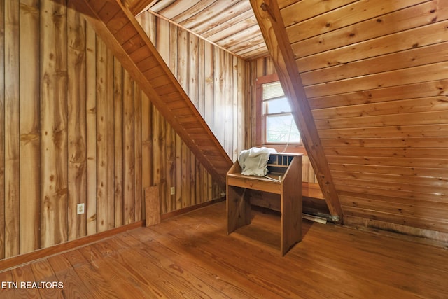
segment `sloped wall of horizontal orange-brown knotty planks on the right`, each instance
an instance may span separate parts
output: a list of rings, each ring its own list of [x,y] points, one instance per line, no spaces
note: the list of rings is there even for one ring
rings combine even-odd
[[[446,241],[447,1],[315,4],[281,16],[344,221]]]

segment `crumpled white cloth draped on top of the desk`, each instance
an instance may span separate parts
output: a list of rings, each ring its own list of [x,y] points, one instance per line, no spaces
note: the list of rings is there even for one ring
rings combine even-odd
[[[274,148],[251,148],[241,151],[238,157],[241,174],[246,176],[265,176],[267,174],[267,161],[269,155],[276,153]]]

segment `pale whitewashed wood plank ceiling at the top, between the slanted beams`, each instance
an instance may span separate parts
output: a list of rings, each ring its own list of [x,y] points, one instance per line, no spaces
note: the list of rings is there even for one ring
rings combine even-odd
[[[244,60],[268,55],[248,0],[126,0],[134,15],[149,11]]]

